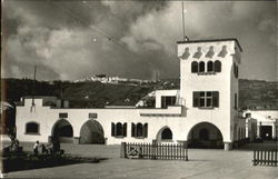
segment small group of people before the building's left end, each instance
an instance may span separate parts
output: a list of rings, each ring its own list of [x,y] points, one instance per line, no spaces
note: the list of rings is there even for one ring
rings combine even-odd
[[[56,138],[51,138],[50,142],[47,145],[40,145],[40,142],[37,140],[33,145],[33,153],[39,153],[39,148],[41,148],[41,153],[57,153],[60,152],[60,141]]]

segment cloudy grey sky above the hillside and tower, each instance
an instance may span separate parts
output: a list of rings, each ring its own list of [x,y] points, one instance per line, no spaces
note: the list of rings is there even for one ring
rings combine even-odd
[[[178,78],[180,1],[3,0],[2,77]],[[239,76],[277,80],[276,1],[185,1],[190,40],[237,38]]]

